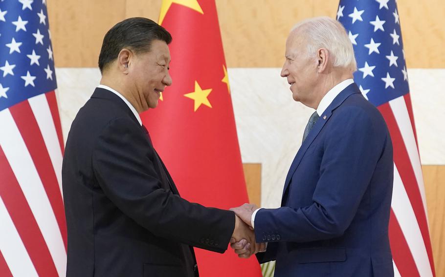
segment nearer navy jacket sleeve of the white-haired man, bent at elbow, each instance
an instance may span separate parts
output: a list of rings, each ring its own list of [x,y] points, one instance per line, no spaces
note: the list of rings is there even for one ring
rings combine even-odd
[[[291,242],[329,239],[343,235],[351,224],[384,150],[387,129],[375,126],[376,120],[357,107],[339,111],[331,120],[325,126],[312,204],[258,211],[257,241],[263,242],[268,234]]]

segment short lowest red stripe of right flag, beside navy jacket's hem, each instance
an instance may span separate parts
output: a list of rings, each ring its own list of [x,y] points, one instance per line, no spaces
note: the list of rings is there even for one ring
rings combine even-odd
[[[389,216],[389,244],[400,275],[403,277],[420,276],[393,209]]]

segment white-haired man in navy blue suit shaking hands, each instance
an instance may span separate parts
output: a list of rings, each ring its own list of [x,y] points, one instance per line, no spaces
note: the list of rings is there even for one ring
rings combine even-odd
[[[281,76],[293,99],[316,111],[286,177],[281,208],[233,209],[254,227],[257,242],[267,243],[257,257],[276,260],[275,277],[394,275],[392,142],[354,71],[354,50],[338,21],[310,19],[290,32]],[[248,257],[243,242],[232,247]]]

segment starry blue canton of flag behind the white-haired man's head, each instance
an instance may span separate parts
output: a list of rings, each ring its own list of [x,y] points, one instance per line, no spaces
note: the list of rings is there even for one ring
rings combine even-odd
[[[337,20],[354,45],[354,80],[365,98],[379,106],[409,93],[395,0],[340,0]]]

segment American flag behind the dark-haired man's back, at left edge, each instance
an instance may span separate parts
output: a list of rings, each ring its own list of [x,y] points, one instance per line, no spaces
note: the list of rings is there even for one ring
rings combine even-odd
[[[0,1],[0,276],[65,276],[62,129],[45,0]]]

